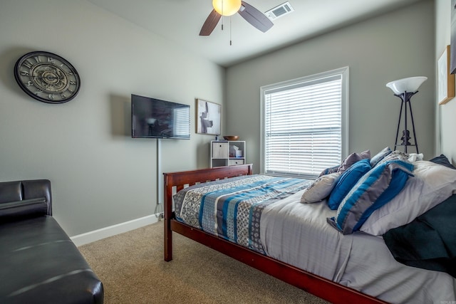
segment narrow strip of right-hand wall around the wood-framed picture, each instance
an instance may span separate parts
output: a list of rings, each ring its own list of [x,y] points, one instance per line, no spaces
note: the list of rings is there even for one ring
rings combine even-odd
[[[442,55],[445,47],[450,45],[451,35],[451,0],[436,0],[435,1],[435,62]],[[453,46],[456,47],[456,46]],[[437,80],[435,80],[437,88]],[[435,100],[437,100],[437,92],[435,93]],[[445,154],[453,164],[456,159],[456,102],[450,100],[445,105],[437,105],[435,102],[436,110],[436,136],[437,136],[437,149],[440,153]]]

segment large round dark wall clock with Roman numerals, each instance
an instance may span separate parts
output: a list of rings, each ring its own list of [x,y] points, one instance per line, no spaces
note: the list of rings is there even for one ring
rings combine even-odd
[[[53,53],[26,53],[14,66],[14,78],[29,96],[44,103],[66,103],[79,91],[76,68]]]

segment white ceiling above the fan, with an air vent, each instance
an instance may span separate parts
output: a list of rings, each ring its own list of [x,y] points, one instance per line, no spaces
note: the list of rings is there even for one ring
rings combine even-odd
[[[229,66],[421,0],[289,0],[294,12],[273,21],[274,26],[266,33],[235,14],[222,18],[224,30],[221,20],[210,36],[199,36],[199,30],[212,11],[212,0],[88,1],[174,41],[187,51]],[[247,3],[265,12],[285,1],[247,0]]]

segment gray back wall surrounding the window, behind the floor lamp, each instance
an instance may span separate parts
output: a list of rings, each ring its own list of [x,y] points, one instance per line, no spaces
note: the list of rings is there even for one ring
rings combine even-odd
[[[247,141],[247,160],[259,172],[262,85],[350,68],[349,152],[393,146],[400,99],[385,84],[427,76],[412,98],[420,152],[434,156],[434,5],[421,1],[227,68],[227,132]],[[411,129],[411,128],[410,128]],[[415,152],[414,150],[412,152]]]

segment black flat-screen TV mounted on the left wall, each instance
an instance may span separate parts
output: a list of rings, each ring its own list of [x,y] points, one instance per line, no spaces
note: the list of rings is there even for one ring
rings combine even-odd
[[[131,137],[190,139],[190,105],[131,95]]]

